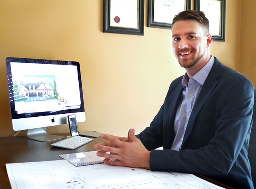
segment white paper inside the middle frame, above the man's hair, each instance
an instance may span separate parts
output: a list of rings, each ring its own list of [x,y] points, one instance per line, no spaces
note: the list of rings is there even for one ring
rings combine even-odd
[[[185,10],[185,0],[155,0],[154,22],[172,23],[176,14]]]

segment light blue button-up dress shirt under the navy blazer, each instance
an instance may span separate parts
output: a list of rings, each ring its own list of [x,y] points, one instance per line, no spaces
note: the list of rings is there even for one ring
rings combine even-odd
[[[174,131],[176,136],[171,145],[171,150],[179,151],[181,148],[190,113],[213,64],[214,56],[211,56],[209,62],[207,62],[207,64],[204,65],[204,67],[192,78],[189,78],[187,73],[185,73],[182,78],[181,85],[184,89],[174,120]]]

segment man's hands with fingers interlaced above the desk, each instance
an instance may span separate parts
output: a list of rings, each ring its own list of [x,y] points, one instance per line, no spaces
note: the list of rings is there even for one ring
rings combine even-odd
[[[134,135],[134,129],[130,129],[128,137],[118,137],[108,134],[101,135],[110,142],[96,144],[95,149],[100,150],[97,155],[106,157],[104,164],[113,166],[127,166],[134,168],[149,168],[150,151]],[[110,152],[110,154],[106,154]],[[110,161],[118,159],[119,161]]]

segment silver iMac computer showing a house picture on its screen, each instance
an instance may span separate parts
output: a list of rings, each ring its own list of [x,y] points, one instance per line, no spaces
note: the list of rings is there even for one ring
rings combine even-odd
[[[6,58],[9,101],[14,131],[28,129],[28,137],[53,141],[45,127],[67,124],[68,115],[85,121],[79,62]]]

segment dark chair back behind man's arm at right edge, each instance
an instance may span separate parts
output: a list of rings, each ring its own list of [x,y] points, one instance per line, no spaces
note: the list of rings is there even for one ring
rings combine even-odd
[[[252,181],[254,182],[254,185],[256,185],[256,89],[254,89],[254,113],[252,115],[248,157],[251,164]]]

